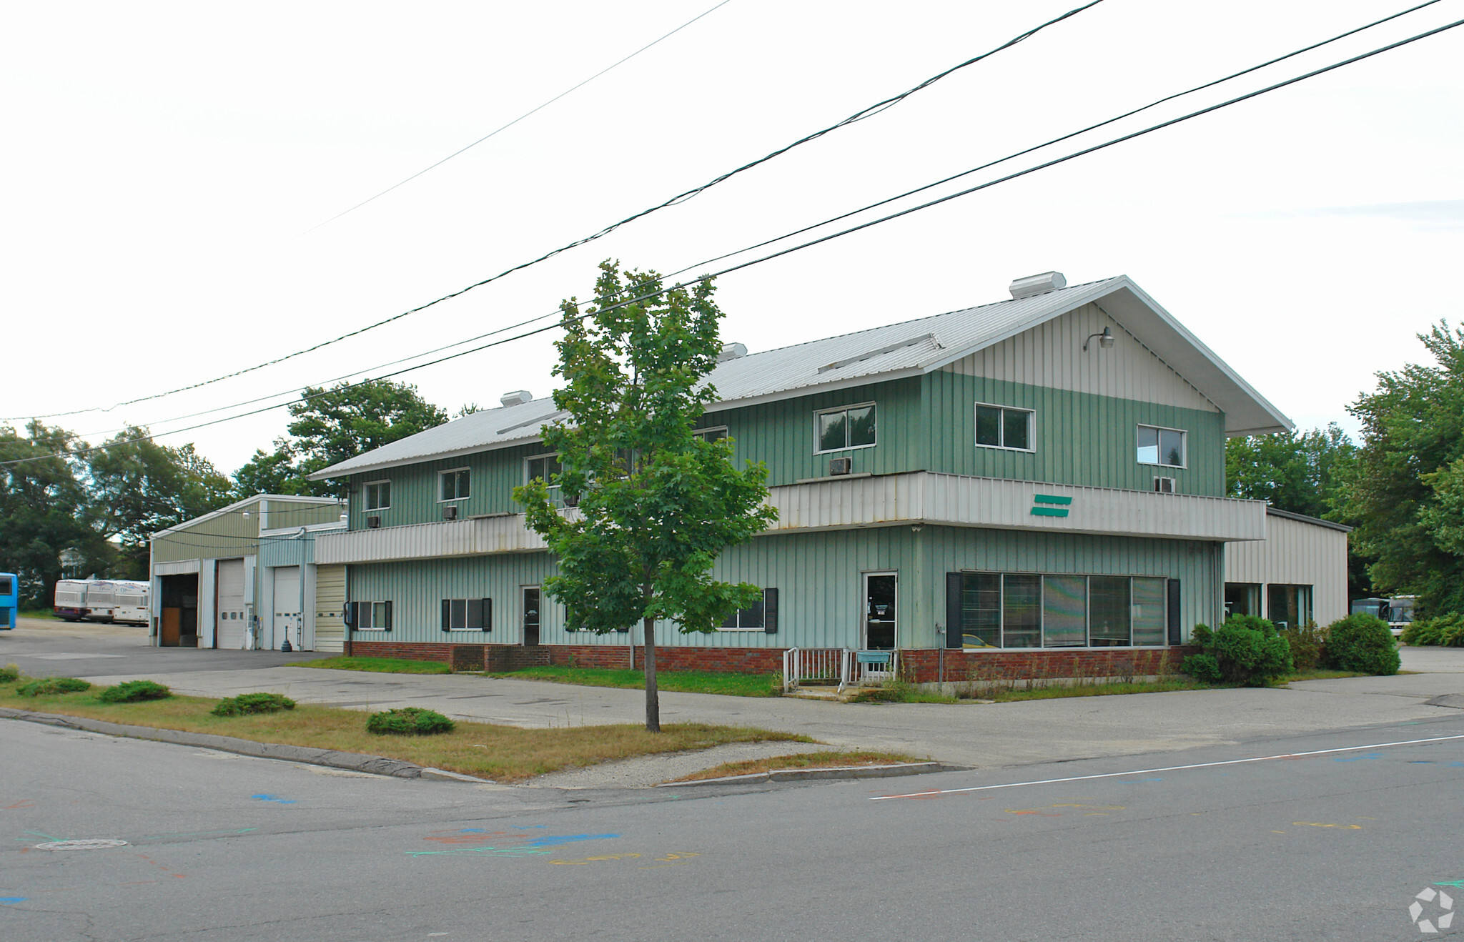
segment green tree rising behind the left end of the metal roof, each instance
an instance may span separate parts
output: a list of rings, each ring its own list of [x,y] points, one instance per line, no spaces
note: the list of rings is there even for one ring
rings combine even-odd
[[[312,481],[321,468],[391,445],[448,420],[410,383],[369,380],[334,389],[307,386],[290,404],[290,437],[274,452],[256,451],[234,472],[234,496],[310,494],[341,497],[347,481]]]

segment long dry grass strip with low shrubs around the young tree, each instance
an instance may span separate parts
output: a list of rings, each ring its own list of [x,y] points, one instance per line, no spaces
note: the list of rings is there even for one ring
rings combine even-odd
[[[704,723],[673,723],[663,726],[662,733],[647,733],[632,724],[521,730],[458,721],[452,733],[439,736],[373,736],[366,731],[367,714],[357,709],[302,704],[275,714],[215,717],[209,711],[218,701],[212,698],[173,696],[139,704],[104,704],[97,699],[104,689],[107,687],[83,693],[18,696],[15,686],[4,685],[0,687],[0,706],[234,736],[261,743],[360,752],[505,783],[615,759],[710,749],[726,743],[814,742],[793,733]]]

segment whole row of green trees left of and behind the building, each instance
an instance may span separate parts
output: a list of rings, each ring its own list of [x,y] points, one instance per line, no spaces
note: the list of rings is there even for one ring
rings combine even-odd
[[[142,427],[94,448],[41,421],[0,426],[0,572],[20,576],[22,607],[48,608],[63,573],[148,578],[154,532],[234,500],[340,496],[340,483],[307,475],[448,420],[416,386],[389,380],[307,388],[288,408],[274,449],[255,451],[231,475],[192,445],[160,445]]]

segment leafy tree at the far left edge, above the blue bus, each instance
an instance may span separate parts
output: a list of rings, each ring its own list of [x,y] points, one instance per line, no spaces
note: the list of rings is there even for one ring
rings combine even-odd
[[[79,573],[107,572],[113,549],[92,527],[92,502],[76,453],[85,443],[64,429],[32,421],[25,433],[0,426],[0,572],[20,579],[22,608],[50,608],[61,554]]]

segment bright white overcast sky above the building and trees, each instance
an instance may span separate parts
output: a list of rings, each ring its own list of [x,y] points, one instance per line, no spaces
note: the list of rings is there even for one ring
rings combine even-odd
[[[111,405],[379,320],[1076,4],[731,0],[306,233],[713,3],[4,4],[0,415]],[[97,442],[124,423],[164,432],[227,415],[164,421],[549,313],[591,294],[603,257],[692,265],[1401,9],[1105,0],[878,117],[502,282],[246,377],[47,421]],[[1120,127],[1461,18],[1464,0],[1444,0]],[[1001,300],[1015,276],[1047,269],[1069,284],[1127,274],[1297,426],[1356,430],[1345,405],[1373,373],[1419,361],[1414,335],[1430,323],[1464,320],[1452,284],[1464,247],[1461,60],[1464,28],[728,275],[723,336],[758,351]],[[509,389],[542,396],[552,336],[403,379],[449,411],[496,405]],[[280,408],[160,440],[196,442],[231,472],[285,421]]]

